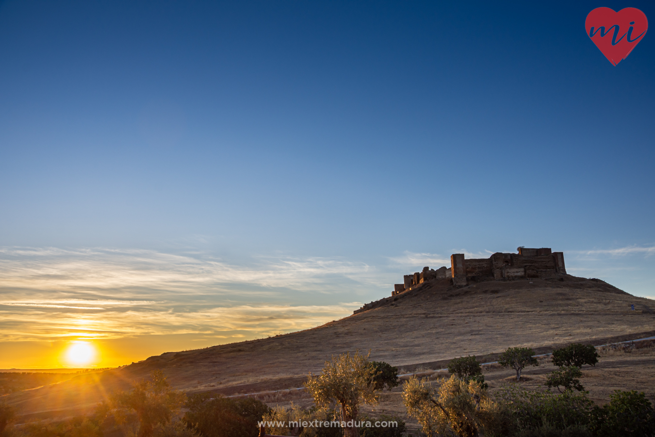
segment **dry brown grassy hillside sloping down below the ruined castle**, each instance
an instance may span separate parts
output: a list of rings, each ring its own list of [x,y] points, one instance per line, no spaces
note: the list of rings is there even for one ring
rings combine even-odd
[[[356,349],[370,349],[371,358],[403,366],[510,346],[598,343],[655,330],[650,308],[654,301],[599,280],[564,279],[488,281],[460,289],[447,280],[433,281],[398,299],[383,299],[364,313],[310,330],[166,352],[124,368],[13,394],[8,400],[23,413],[88,408],[158,368],[173,387],[189,392],[235,385],[265,388],[274,387],[276,380],[293,381],[291,377],[320,371],[331,355]],[[637,311],[630,311],[631,303]]]

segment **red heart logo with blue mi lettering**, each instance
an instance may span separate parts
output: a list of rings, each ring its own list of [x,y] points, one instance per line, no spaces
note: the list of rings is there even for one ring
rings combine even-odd
[[[633,48],[646,35],[648,20],[641,10],[596,8],[589,12],[584,22],[587,35],[605,58],[616,66],[627,58]]]

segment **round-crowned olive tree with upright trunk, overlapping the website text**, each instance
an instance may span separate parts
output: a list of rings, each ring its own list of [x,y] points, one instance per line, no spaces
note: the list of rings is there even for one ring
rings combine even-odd
[[[337,404],[341,413],[345,437],[358,437],[355,419],[360,404],[377,404],[378,392],[374,383],[375,366],[359,352],[333,356],[326,361],[320,375],[309,374],[305,387],[314,398],[316,407],[329,409]]]

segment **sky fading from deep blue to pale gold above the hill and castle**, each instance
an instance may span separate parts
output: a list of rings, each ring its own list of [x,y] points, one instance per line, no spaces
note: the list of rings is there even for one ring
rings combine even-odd
[[[315,326],[453,252],[519,245],[655,296],[655,46],[646,33],[612,66],[584,30],[599,6],[655,16],[643,1],[0,3],[0,342],[72,338],[26,327],[109,320],[107,299],[143,320],[303,307],[302,326],[229,328],[245,337]],[[217,332],[198,344],[240,338]]]

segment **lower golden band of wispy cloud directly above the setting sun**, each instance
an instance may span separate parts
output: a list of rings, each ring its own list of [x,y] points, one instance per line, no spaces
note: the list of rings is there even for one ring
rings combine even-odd
[[[227,338],[235,333],[269,335],[312,328],[352,313],[361,303],[340,305],[238,305],[195,311],[103,311],[53,313],[0,311],[0,341],[71,337],[116,339],[134,335],[202,334]],[[229,335],[228,335],[229,334]]]

